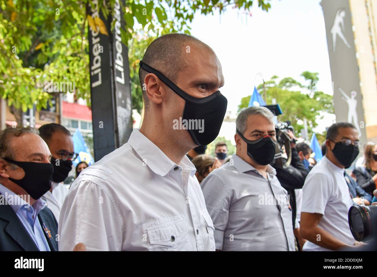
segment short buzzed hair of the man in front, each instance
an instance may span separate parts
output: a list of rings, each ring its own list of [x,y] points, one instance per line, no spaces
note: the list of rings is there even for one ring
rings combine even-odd
[[[164,74],[170,81],[175,83],[176,78],[178,77],[178,72],[182,69],[182,46],[185,46],[184,43],[195,43],[201,46],[205,46],[211,51],[209,47],[204,42],[200,41],[198,38],[191,35],[182,34],[182,33],[173,33],[162,35],[161,37],[156,38],[149,44],[144,57],[143,63],[153,67],[162,74]],[[189,45],[187,45],[189,46]],[[148,72],[140,67],[139,69],[139,80],[141,89],[143,90],[144,79]],[[147,109],[149,106],[149,99],[143,90],[143,100],[144,106]]]

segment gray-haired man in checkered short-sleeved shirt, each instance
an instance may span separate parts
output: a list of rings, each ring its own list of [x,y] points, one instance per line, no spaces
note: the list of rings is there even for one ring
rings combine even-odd
[[[201,183],[216,249],[294,251],[287,191],[269,165],[276,142],[273,114],[249,107],[239,113],[236,128],[236,154]]]

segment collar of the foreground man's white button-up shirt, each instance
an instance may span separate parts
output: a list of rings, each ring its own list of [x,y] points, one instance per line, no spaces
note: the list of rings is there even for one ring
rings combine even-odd
[[[128,143],[150,170],[160,176],[165,176],[173,167],[177,166],[160,148],[144,136],[139,129],[133,129]],[[183,170],[190,171],[190,175],[194,176],[196,169],[189,158],[184,156],[179,166]]]

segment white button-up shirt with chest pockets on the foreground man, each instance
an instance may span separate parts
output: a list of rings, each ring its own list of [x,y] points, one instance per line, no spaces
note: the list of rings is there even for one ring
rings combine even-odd
[[[61,208],[59,250],[214,251],[213,222],[185,156],[171,161],[146,136],[83,170]]]

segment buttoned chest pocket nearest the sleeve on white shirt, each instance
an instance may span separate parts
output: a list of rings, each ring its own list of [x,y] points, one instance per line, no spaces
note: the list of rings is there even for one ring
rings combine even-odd
[[[183,216],[173,216],[143,225],[149,251],[189,251],[189,233]]]

